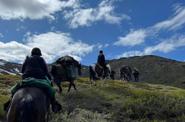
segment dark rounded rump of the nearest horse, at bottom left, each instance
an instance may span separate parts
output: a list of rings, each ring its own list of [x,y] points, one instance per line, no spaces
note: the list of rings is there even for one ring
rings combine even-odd
[[[7,122],[47,122],[50,102],[39,88],[25,87],[13,96]]]

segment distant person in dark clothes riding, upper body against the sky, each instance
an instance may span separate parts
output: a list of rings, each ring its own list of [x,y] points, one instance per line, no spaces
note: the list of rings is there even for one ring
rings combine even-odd
[[[105,75],[106,62],[105,62],[105,55],[103,54],[103,50],[99,51],[97,64],[103,68],[103,72],[104,72],[104,75]]]

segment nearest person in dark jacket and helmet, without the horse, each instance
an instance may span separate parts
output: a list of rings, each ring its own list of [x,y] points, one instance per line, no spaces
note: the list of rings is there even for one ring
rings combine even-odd
[[[35,78],[35,79],[49,79],[51,81],[51,76],[48,72],[47,64],[45,60],[41,57],[42,53],[39,48],[33,48],[31,51],[31,56],[26,57],[22,65],[22,79]],[[56,101],[55,96],[47,94],[47,91],[43,89],[48,98],[50,99],[53,112],[58,112],[61,110],[61,105]],[[13,95],[12,95],[13,96]],[[9,101],[10,102],[10,101]],[[5,109],[8,107],[8,103],[5,104]]]

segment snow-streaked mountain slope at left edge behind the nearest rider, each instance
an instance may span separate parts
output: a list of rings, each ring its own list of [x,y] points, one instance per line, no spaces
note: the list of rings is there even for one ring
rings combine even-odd
[[[20,74],[21,65],[0,59],[0,74]]]

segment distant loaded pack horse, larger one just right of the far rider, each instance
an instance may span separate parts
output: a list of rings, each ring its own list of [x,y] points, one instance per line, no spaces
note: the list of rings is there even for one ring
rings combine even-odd
[[[132,80],[132,69],[130,66],[123,66],[120,69],[120,79],[125,81]]]

